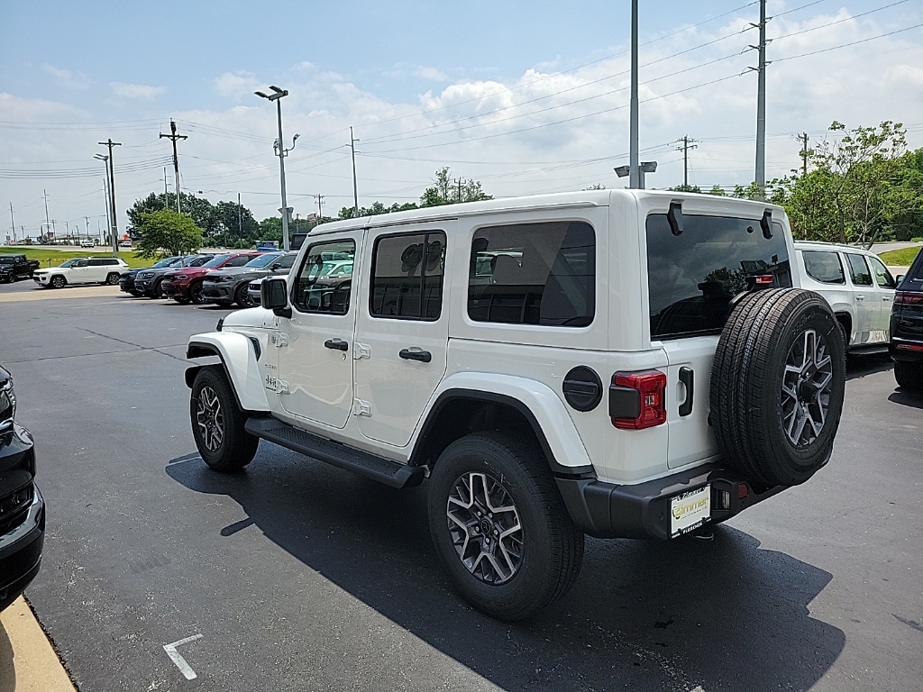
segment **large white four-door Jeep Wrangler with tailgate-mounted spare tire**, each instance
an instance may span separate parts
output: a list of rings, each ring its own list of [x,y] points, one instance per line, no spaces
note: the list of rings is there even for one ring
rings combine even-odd
[[[845,381],[783,209],[601,190],[319,226],[262,307],[193,336],[216,471],[264,439],[428,479],[451,581],[502,619],[568,591],[583,535],[674,539],[830,459]],[[325,277],[332,261],[352,275]]]

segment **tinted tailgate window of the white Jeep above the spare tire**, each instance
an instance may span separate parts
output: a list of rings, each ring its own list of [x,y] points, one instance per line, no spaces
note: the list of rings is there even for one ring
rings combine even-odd
[[[790,287],[785,232],[773,223],[724,216],[683,216],[683,233],[670,232],[666,214],[647,218],[647,273],[651,338],[716,334],[725,326],[731,298],[748,291],[757,276]]]

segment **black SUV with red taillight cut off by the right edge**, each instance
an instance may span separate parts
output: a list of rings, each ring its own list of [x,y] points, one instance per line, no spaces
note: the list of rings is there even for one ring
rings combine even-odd
[[[923,252],[897,284],[891,310],[894,379],[910,391],[923,391]]]

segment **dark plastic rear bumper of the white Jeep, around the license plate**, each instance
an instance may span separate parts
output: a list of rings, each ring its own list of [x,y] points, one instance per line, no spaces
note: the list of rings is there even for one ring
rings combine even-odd
[[[730,519],[747,507],[772,497],[784,485],[757,493],[736,471],[716,465],[699,466],[637,485],[617,485],[593,479],[556,478],[557,488],[577,527],[597,538],[671,537],[670,500],[711,486],[711,513],[706,524]],[[746,495],[744,490],[746,489]]]

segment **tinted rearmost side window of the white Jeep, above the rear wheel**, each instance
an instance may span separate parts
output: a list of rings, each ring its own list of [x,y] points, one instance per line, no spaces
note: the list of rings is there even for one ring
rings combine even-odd
[[[596,301],[596,239],[584,221],[488,226],[474,233],[468,316],[475,322],[586,327]]]

